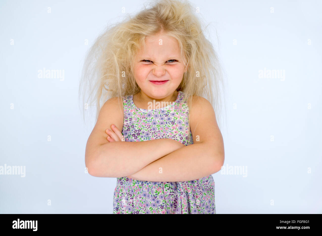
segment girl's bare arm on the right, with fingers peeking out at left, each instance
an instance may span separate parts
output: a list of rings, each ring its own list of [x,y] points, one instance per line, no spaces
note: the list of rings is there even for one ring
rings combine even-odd
[[[144,181],[176,182],[200,179],[219,171],[224,162],[223,137],[210,103],[203,98],[197,100],[190,119],[194,144],[176,149],[128,177]],[[108,135],[123,137],[117,127],[112,129],[114,132],[107,131]],[[108,137],[109,142],[114,141],[111,137]]]

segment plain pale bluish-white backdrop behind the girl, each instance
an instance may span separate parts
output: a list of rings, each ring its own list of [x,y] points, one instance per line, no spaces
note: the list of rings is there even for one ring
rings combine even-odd
[[[226,73],[216,213],[322,213],[321,1],[190,2]],[[0,168],[25,167],[0,175],[0,213],[112,213],[116,178],[84,173],[79,78],[107,23],[143,3],[0,1]]]

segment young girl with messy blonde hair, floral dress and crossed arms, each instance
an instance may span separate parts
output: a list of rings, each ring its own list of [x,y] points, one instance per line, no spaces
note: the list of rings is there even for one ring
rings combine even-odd
[[[216,213],[220,71],[188,2],[155,1],[99,36],[80,84],[97,114],[85,165],[117,178],[113,214]]]

